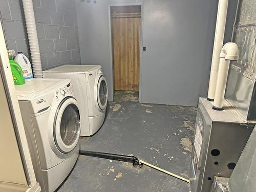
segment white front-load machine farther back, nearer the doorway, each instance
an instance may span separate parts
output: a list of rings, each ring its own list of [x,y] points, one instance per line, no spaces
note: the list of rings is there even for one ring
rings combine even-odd
[[[108,87],[99,65],[63,65],[43,71],[45,78],[69,78],[81,111],[81,136],[91,136],[105,118]]]

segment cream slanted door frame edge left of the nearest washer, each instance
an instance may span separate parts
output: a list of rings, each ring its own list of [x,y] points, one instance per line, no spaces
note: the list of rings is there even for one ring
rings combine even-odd
[[[36,191],[37,189],[40,188],[40,186],[36,181],[32,159],[29,152],[29,146],[25,134],[22,114],[20,112],[19,103],[16,95],[16,89],[13,83],[13,77],[10,69],[10,63],[8,59],[5,36],[2,25],[3,23],[2,20],[0,19],[0,78],[2,79],[4,84],[5,97],[7,99],[6,101],[8,102],[9,112],[13,124],[13,127],[10,127],[10,129],[13,129],[13,132],[16,136],[17,146],[20,153],[20,159],[23,164],[27,185],[30,187],[28,191],[32,191],[33,189],[33,191]],[[0,125],[2,124],[0,123]],[[6,186],[8,187],[8,185],[9,184],[7,183]]]

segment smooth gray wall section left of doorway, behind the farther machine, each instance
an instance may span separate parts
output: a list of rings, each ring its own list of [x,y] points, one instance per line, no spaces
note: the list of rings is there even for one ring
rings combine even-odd
[[[111,49],[109,38],[109,0],[93,2],[76,0],[79,46],[82,64],[102,66],[108,83],[108,100],[113,100],[113,79],[111,71]]]

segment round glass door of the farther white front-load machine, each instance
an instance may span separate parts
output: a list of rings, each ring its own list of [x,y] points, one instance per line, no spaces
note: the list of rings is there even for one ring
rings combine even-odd
[[[100,110],[106,109],[106,104],[108,101],[108,87],[106,86],[106,78],[101,75],[97,86],[97,103]]]

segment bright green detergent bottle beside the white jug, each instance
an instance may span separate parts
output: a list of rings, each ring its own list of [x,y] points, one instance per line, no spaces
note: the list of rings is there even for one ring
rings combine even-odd
[[[18,63],[16,61],[13,60],[12,56],[9,56],[9,62],[10,62],[12,78],[13,78],[15,86],[24,84],[25,79],[23,77],[22,68],[18,65]]]

